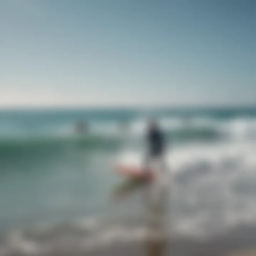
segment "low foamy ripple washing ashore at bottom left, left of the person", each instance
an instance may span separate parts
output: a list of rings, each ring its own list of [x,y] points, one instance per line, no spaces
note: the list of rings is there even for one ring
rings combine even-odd
[[[88,222],[88,220],[86,220]],[[94,220],[95,223],[97,223]],[[99,225],[99,223],[97,223]],[[101,226],[66,223],[49,226],[47,229],[12,231],[6,238],[6,244],[0,247],[1,255],[52,255],[62,252],[88,252],[100,246],[115,242],[139,241],[145,239],[143,227]]]

